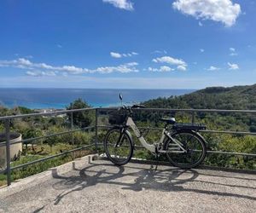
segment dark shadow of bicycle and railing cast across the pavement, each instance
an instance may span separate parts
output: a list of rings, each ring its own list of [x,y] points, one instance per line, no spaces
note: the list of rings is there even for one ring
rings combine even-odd
[[[57,174],[56,170],[53,170],[53,177],[60,181],[57,181],[52,187],[54,187],[55,190],[64,190],[55,198],[55,204],[59,204],[61,199],[70,193],[81,191],[86,187],[96,186],[99,183],[116,185],[120,186],[122,190],[132,190],[135,192],[148,189],[164,192],[203,193],[223,197],[255,200],[255,197],[244,194],[217,192],[214,191],[214,188],[212,190],[201,190],[183,187],[183,183],[197,181],[195,179],[199,176],[199,173],[196,170],[180,170],[175,168],[154,170],[143,169],[141,167],[133,166],[133,164],[118,167],[112,164],[96,164],[94,162],[90,162],[88,166],[78,171],[79,176],[60,176]],[[132,183],[131,181],[125,182],[121,181],[119,178],[133,178],[134,181],[132,181]],[[201,181],[197,182],[200,183]],[[211,181],[202,181],[202,183],[212,184]],[[219,185],[225,186],[223,183],[220,183]],[[227,185],[227,187],[233,186]]]

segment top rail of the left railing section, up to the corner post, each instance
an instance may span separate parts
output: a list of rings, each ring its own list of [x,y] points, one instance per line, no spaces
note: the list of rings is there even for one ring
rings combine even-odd
[[[31,114],[22,114],[22,115],[11,115],[11,116],[3,116],[0,117],[1,120],[9,120],[9,119],[16,119],[16,118],[28,118],[28,117],[37,117],[37,116],[50,116],[50,115],[59,115],[59,114],[66,114],[71,112],[84,112],[95,110],[96,108],[82,108],[82,109],[70,109],[70,110],[60,110],[55,112],[39,112],[39,113],[31,113]]]

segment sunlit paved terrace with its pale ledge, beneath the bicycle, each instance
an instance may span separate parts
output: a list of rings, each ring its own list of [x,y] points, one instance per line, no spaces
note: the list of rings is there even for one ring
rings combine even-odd
[[[255,212],[256,173],[154,168],[85,157],[3,187],[0,212]]]

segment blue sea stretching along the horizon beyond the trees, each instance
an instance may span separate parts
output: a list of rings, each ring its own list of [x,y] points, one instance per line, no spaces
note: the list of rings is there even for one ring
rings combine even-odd
[[[195,89],[0,89],[0,105],[63,109],[82,98],[91,107],[114,107],[120,106],[119,93],[122,93],[124,103],[132,103],[193,91]]]

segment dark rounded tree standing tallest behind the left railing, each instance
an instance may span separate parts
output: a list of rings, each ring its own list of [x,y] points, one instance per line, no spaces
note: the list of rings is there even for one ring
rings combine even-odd
[[[83,101],[82,99],[78,99],[73,101],[67,110],[71,109],[82,109],[82,108],[90,108],[90,105]],[[72,113],[67,114],[68,121],[71,123]],[[93,113],[91,111],[84,112],[73,112],[73,124],[79,126],[80,128],[87,127],[91,124],[93,120]]]

